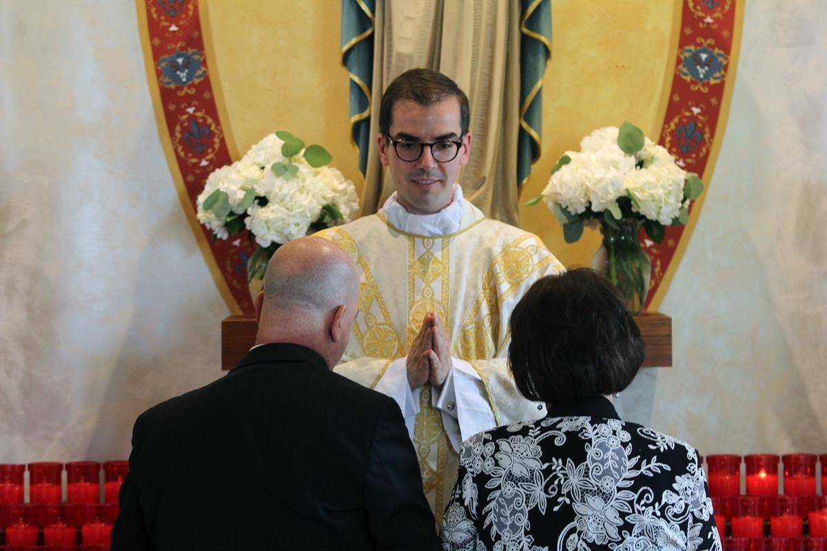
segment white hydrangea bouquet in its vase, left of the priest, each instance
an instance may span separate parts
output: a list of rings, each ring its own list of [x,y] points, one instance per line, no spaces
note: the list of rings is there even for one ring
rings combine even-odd
[[[327,166],[331,160],[321,145],[305,146],[278,131],[210,173],[198,195],[198,221],[217,239],[249,230],[257,247],[247,262],[248,281],[264,278],[279,245],[356,215],[356,188]]]

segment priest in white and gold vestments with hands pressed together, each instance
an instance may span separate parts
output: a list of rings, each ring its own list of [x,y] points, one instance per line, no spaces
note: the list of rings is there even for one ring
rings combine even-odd
[[[509,316],[562,265],[536,235],[485,218],[462,196],[471,153],[466,94],[412,69],[385,90],[377,135],[396,191],[380,211],[323,230],[361,275],[353,338],[337,373],[393,397],[437,519],[471,435],[545,415],[506,365]]]

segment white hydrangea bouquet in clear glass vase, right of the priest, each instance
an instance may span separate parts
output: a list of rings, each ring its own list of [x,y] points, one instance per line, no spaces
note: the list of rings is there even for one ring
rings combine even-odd
[[[665,226],[689,221],[690,202],[704,183],[686,173],[662,145],[624,122],[593,131],[580,151],[566,151],[552,169],[543,193],[529,201],[546,203],[563,225],[566,243],[583,234],[584,223],[600,225],[603,246],[592,266],[604,273],[638,313],[648,295],[651,262],[640,246],[640,226],[661,243]]]

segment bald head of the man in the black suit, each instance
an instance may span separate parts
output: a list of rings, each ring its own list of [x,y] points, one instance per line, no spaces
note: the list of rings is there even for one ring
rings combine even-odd
[[[342,249],[318,237],[281,245],[256,300],[256,344],[302,344],[332,368],[350,340],[358,297],[356,264]]]

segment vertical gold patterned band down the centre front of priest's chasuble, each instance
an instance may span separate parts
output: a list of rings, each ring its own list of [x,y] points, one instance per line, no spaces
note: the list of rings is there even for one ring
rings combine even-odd
[[[437,314],[443,327],[451,327],[452,240],[414,235],[404,235],[404,238],[408,240],[407,349],[410,349],[428,312]],[[433,507],[434,515],[441,519],[445,509],[447,458],[453,449],[447,433],[442,429],[442,415],[432,405],[430,383],[426,383],[419,394],[419,412],[414,421],[414,447],[425,497]]]

